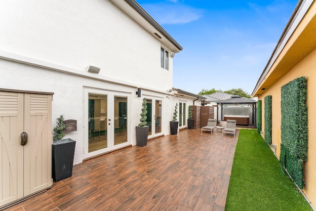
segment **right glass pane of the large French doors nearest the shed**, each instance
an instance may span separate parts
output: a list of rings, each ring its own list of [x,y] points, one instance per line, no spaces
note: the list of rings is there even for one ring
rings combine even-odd
[[[127,142],[127,97],[114,97],[114,145]]]

